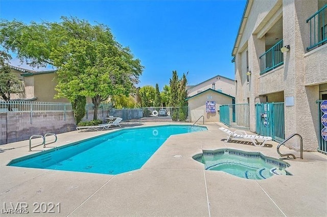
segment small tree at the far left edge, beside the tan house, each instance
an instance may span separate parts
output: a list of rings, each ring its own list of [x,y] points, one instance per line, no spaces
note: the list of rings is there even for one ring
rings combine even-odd
[[[18,93],[20,85],[18,77],[11,72],[10,60],[11,56],[0,50],[0,96],[6,101],[10,100],[10,94]],[[8,107],[8,110],[11,111],[11,108]]]

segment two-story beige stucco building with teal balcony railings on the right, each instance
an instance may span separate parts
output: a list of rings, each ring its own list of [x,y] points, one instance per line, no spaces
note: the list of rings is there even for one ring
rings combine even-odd
[[[327,153],[317,147],[327,144],[317,103],[327,100],[326,42],[326,0],[247,1],[232,56],[236,103],[249,103],[251,131],[258,132],[258,123],[267,118],[256,115],[255,104],[282,102],[285,122],[278,128],[285,138],[299,133],[304,150]],[[290,142],[298,143],[297,138]]]

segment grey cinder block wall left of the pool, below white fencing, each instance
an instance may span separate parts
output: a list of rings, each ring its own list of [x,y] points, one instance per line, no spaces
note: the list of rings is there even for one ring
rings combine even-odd
[[[0,144],[28,140],[34,134],[57,134],[76,129],[73,112],[0,113],[0,125]]]

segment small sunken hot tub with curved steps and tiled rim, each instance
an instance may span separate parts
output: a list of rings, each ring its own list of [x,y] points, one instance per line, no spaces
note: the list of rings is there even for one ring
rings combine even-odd
[[[235,149],[203,150],[193,159],[204,164],[205,170],[223,171],[246,179],[267,179],[273,175],[291,175],[285,169],[290,165],[267,157],[260,152]]]

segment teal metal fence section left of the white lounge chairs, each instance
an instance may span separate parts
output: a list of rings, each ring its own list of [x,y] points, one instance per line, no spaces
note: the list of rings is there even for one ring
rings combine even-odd
[[[237,129],[250,129],[249,104],[226,104],[219,107],[220,122]]]

